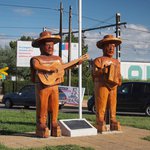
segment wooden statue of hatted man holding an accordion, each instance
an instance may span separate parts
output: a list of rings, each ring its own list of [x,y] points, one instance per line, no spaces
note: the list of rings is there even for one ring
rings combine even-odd
[[[106,108],[110,109],[110,130],[121,130],[116,120],[117,86],[121,85],[120,62],[113,58],[115,47],[121,42],[113,35],[106,35],[97,42],[97,47],[103,49],[103,56],[94,60],[92,69],[98,132],[107,131]]]

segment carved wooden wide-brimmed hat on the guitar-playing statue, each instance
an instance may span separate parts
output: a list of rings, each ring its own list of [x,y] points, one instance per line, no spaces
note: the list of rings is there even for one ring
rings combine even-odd
[[[40,47],[40,44],[45,42],[54,42],[54,44],[60,42],[60,36],[59,35],[52,35],[49,31],[43,31],[40,33],[40,37],[38,39],[35,39],[32,42],[33,47]]]

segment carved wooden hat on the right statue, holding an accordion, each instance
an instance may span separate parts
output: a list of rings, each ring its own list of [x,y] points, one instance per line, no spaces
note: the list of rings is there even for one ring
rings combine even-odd
[[[113,35],[105,35],[104,38],[96,43],[96,46],[100,49],[103,49],[103,45],[106,43],[112,43],[115,44],[117,47],[122,43],[122,40],[120,38],[116,38]]]

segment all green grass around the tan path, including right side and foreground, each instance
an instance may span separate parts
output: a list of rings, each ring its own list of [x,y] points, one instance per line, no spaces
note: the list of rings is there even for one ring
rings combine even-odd
[[[36,127],[36,112],[31,110],[0,110],[0,134],[12,135],[16,133],[33,132]],[[78,118],[78,113],[59,113],[59,119],[73,119]],[[83,114],[91,124],[95,124],[95,114]],[[117,116],[121,125],[132,126],[150,130],[150,117],[138,116]],[[150,136],[145,137],[145,140],[150,141]],[[68,147],[68,149],[67,149]],[[70,149],[69,149],[70,148]],[[0,145],[0,149],[10,150],[9,148]],[[45,147],[42,150],[92,150],[92,148],[79,147],[77,145]],[[21,149],[19,149],[21,150]],[[23,150],[23,149],[22,149]],[[34,149],[31,149],[34,150]],[[38,150],[38,149],[37,149]],[[39,149],[40,150],[40,149]]]

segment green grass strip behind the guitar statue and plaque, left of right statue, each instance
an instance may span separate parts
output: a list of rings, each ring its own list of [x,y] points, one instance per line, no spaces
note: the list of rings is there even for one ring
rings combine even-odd
[[[12,135],[32,132],[36,127],[36,112],[30,110],[0,110],[0,133]],[[78,114],[59,113],[58,119],[78,118]],[[95,115],[83,115],[91,123],[95,122]]]

